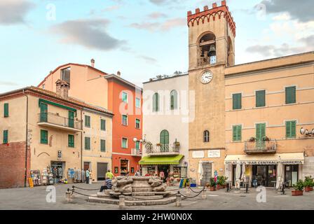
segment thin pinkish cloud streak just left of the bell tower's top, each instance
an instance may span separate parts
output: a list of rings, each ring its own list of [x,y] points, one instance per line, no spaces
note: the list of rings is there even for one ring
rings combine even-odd
[[[183,27],[186,25],[186,20],[183,18],[175,18],[170,20],[165,20],[165,22],[142,22],[142,23],[132,23],[130,27],[135,29],[144,29],[148,31],[169,31],[175,27]]]

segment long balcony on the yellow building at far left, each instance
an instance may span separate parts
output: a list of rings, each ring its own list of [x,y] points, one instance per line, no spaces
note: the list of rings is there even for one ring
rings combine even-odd
[[[39,113],[38,117],[39,126],[52,127],[68,132],[82,132],[81,120],[64,118],[55,113]]]

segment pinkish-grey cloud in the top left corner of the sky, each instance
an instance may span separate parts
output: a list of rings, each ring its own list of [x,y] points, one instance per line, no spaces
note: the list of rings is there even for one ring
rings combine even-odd
[[[25,23],[25,17],[35,4],[28,0],[1,0],[0,25]]]

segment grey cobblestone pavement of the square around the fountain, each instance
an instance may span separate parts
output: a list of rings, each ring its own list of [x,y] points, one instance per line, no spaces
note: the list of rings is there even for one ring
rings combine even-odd
[[[45,186],[36,188],[13,188],[13,189],[1,189],[0,190],[0,209],[78,209],[78,210],[112,210],[118,209],[117,205],[112,204],[98,204],[89,203],[86,201],[86,197],[76,195],[72,202],[65,200],[65,192],[67,188],[71,188],[72,185],[57,185],[55,186],[57,197],[55,203],[46,202]],[[88,185],[85,183],[76,184],[81,188],[100,188],[101,183],[94,183]],[[170,188],[174,189],[174,188]],[[195,190],[201,190],[202,188],[196,188]],[[259,194],[256,189],[250,189],[250,193],[246,194],[243,190],[232,190],[231,193],[226,193],[226,189],[217,190],[214,192],[207,191],[207,198],[202,199],[201,195],[193,199],[182,200],[182,207],[175,207],[175,203],[165,206],[153,206],[153,207],[128,207],[128,209],[143,210],[179,210],[179,209],[314,209],[314,192],[304,193],[300,197],[292,197],[291,190],[286,191],[286,195],[279,195],[273,190],[273,188],[267,188],[266,190],[266,202],[257,202],[257,195]],[[95,194],[96,191],[82,191],[84,194]],[[183,194],[186,194],[185,189],[182,190]],[[190,196],[195,195],[191,193]]]

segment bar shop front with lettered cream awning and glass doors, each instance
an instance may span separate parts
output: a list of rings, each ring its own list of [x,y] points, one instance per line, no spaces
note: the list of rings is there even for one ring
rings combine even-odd
[[[278,174],[278,165],[282,164],[282,174]],[[241,167],[241,179],[250,186],[274,187],[281,176],[289,186],[293,186],[301,176],[304,164],[303,153],[277,153],[273,155],[227,155],[225,158],[226,174],[235,184],[235,169]],[[245,169],[244,167],[245,166]],[[245,174],[243,171],[245,170]]]

